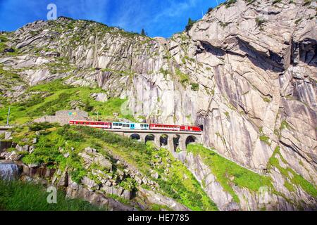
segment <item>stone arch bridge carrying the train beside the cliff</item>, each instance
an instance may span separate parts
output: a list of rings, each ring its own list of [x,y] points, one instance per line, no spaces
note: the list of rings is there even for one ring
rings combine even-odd
[[[104,129],[108,132],[137,139],[143,143],[154,141],[155,146],[167,146],[171,153],[177,148],[185,151],[189,143],[201,143],[200,132],[193,131],[159,131],[159,130],[132,130],[132,129]]]

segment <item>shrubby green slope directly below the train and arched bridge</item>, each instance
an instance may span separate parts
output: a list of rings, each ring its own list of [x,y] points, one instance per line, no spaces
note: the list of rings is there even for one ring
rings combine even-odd
[[[91,146],[96,148],[99,153],[108,158],[116,155],[123,158],[130,165],[139,169],[142,174],[151,178],[150,170],[159,173],[156,181],[160,188],[159,193],[174,198],[179,203],[189,207],[192,210],[217,210],[216,205],[208,198],[202,190],[199,182],[182,165],[175,160],[166,149],[155,150],[151,143],[144,145],[138,141],[124,138],[113,133],[106,133],[99,129],[89,127],[54,127],[51,124],[35,124],[34,127],[20,127],[16,130],[14,141],[20,144],[27,144],[23,141],[25,138],[32,140],[35,137],[35,131],[42,129],[39,141],[35,145],[36,150],[23,158],[23,162],[45,163],[49,167],[59,167],[71,169],[70,175],[74,181],[80,182],[83,176],[89,174],[90,169],[83,167],[82,159],[77,156],[85,147]],[[30,144],[30,143],[28,143]],[[69,158],[64,158],[58,148],[64,148],[70,153]],[[75,150],[71,150],[71,148]],[[157,162],[158,156],[162,158],[161,164],[156,167],[151,165]],[[170,162],[170,167],[167,164]],[[168,174],[165,169],[169,169]],[[117,168],[123,169],[123,168]],[[107,171],[104,171],[108,173]],[[116,176],[116,168],[113,169],[113,175]],[[94,178],[92,178],[94,179]],[[97,181],[98,182],[98,181]],[[137,188],[135,181],[126,179],[120,184],[123,188]],[[149,188],[142,185],[143,188]]]

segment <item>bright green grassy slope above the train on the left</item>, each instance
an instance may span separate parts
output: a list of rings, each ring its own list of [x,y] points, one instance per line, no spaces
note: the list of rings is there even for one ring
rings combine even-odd
[[[91,110],[89,115],[97,117],[96,113],[92,113],[92,111],[99,112],[101,120],[113,119],[113,113],[118,113],[119,117],[123,117],[123,115],[120,115],[120,107],[125,102],[125,99],[111,98],[106,103],[101,103],[94,101],[90,97],[92,93],[103,92],[101,89],[66,86],[62,84],[61,80],[56,80],[30,87],[27,89],[27,92],[32,96],[30,99],[22,103],[13,103],[10,105],[11,124],[23,124],[42,115],[54,115],[58,110],[71,109],[71,101],[81,101],[83,103],[82,109],[87,109],[85,107],[88,104],[87,107]],[[42,94],[35,94],[38,92],[47,94],[48,96],[42,98]],[[6,123],[8,106],[0,108],[0,124]],[[133,120],[131,116],[127,118]]]

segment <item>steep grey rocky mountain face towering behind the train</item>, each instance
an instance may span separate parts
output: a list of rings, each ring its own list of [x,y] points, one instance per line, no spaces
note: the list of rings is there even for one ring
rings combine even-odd
[[[56,79],[98,89],[128,99],[122,117],[202,125],[204,146],[271,177],[275,191],[228,191],[202,152],[179,154],[220,210],[316,209],[316,27],[307,0],[227,1],[170,39],[37,21],[1,33],[1,105],[46,98],[30,86]]]

